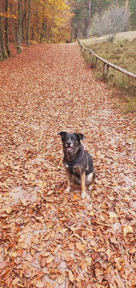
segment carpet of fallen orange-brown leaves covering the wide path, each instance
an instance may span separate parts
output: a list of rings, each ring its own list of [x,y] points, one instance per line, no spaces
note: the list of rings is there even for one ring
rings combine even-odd
[[[32,46],[1,71],[0,287],[135,287],[134,114],[112,108],[74,44]],[[64,193],[60,131],[84,133],[87,199]]]

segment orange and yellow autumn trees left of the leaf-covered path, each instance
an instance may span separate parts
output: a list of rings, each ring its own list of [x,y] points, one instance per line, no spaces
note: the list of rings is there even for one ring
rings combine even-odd
[[[60,43],[71,35],[70,6],[63,0],[2,0],[0,4],[0,60],[11,56],[10,43],[17,54],[22,43]],[[6,49],[5,49],[6,47]]]

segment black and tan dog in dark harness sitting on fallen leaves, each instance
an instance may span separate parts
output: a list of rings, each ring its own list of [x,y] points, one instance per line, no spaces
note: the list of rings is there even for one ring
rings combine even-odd
[[[88,190],[91,190],[93,183],[96,182],[96,173],[93,167],[93,159],[90,154],[84,150],[80,140],[84,140],[84,135],[81,133],[66,133],[60,132],[64,159],[63,164],[66,169],[67,176],[67,192],[70,191],[71,178],[77,183],[81,183],[81,197],[86,197],[85,184],[89,184]]]

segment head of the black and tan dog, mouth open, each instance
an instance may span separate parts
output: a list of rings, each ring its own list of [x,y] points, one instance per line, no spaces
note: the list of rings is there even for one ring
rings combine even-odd
[[[66,148],[69,153],[80,144],[80,140],[84,140],[84,135],[81,133],[60,132],[58,135],[59,134],[63,142],[63,147]]]

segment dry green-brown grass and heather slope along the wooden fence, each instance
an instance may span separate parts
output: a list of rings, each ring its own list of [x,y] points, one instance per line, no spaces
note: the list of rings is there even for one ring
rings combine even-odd
[[[133,31],[135,32],[135,31]],[[128,32],[125,32],[128,33]],[[119,33],[123,34],[124,33]],[[133,33],[133,37],[136,37],[136,32]],[[127,35],[126,35],[127,37]],[[95,42],[92,39],[83,40],[82,43],[85,47],[91,49],[100,57],[108,60],[109,62],[136,74],[136,38],[128,37],[129,39],[115,39],[114,42],[110,43],[102,38],[101,41]],[[132,40],[130,40],[130,38]],[[93,68],[95,66],[95,58],[91,58],[88,53],[85,56],[85,60],[90,63]],[[103,62],[98,60],[98,70],[94,71],[94,75],[97,79],[103,79]],[[122,111],[135,112],[136,111],[136,80],[127,75],[118,72],[115,69],[110,69],[110,76],[108,79],[108,87],[113,87],[115,90],[113,98],[116,98],[116,91],[120,90],[120,102],[122,103]],[[115,105],[116,108],[120,105]],[[118,106],[118,107],[117,107]]]

